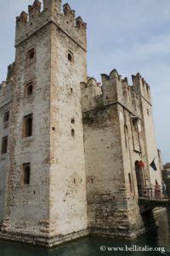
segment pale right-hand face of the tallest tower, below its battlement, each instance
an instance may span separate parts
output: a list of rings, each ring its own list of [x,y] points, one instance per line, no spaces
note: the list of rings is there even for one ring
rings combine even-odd
[[[68,55],[71,55],[71,60]],[[50,218],[55,235],[88,227],[80,81],[86,51],[52,27]]]

